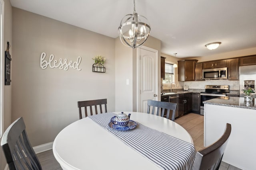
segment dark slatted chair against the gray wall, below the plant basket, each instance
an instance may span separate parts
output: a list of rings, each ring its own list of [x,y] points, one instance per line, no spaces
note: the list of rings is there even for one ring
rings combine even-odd
[[[99,100],[86,100],[86,101],[78,101],[77,102],[77,105],[78,105],[78,108],[79,108],[79,119],[82,119],[82,107],[84,107],[84,112],[85,112],[85,117],[88,116],[87,114],[87,106],[90,107],[90,115],[92,115],[93,111],[92,111],[92,106],[94,106],[94,110],[95,110],[95,113],[98,114],[98,109],[97,109],[97,106],[100,107],[100,113],[103,113],[102,112],[102,105],[104,105],[104,108],[105,108],[105,112],[108,112],[107,111],[107,99],[99,99]]]

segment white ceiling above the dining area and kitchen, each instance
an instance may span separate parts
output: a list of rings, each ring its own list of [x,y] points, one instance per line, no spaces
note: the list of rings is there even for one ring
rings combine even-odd
[[[10,0],[12,6],[112,38],[133,0]],[[256,47],[256,0],[136,0],[161,52],[202,57]],[[220,41],[218,49],[204,45]]]

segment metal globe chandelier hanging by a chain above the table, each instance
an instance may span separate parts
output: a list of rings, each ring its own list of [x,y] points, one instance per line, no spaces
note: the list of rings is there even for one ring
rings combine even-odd
[[[137,48],[147,40],[150,34],[150,24],[147,18],[136,13],[135,0],[133,0],[133,4],[133,14],[124,16],[118,27],[118,34],[125,46]]]

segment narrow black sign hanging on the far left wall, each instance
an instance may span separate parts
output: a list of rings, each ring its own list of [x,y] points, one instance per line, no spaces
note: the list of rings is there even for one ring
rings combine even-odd
[[[4,67],[4,72],[5,72],[5,85],[10,85],[11,84],[11,55],[9,53],[10,49],[10,44],[7,42],[7,49],[5,51],[5,67]]]

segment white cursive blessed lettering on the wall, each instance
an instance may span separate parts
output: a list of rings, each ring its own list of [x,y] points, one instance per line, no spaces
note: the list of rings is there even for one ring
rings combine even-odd
[[[74,68],[78,71],[81,70],[81,68],[79,68],[79,64],[81,62],[81,57],[77,57],[77,60],[75,62],[73,61],[69,61],[67,59],[59,59],[58,60],[54,60],[54,55],[50,55],[49,60],[45,60],[46,57],[46,53],[42,53],[41,57],[40,57],[40,67],[42,69],[46,69],[48,66],[50,68],[59,68],[60,70],[64,69],[64,70],[68,70],[68,68]]]

